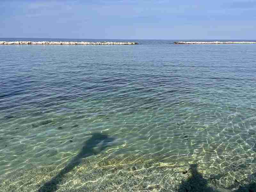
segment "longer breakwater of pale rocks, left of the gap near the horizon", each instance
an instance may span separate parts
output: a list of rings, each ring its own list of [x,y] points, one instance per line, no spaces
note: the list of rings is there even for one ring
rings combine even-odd
[[[1,45],[134,45],[135,42],[0,41]]]

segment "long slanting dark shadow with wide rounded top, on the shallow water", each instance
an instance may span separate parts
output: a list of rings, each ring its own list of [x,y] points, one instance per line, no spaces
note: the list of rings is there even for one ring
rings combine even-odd
[[[84,142],[83,148],[80,153],[77,154],[71,162],[67,164],[55,177],[53,177],[50,181],[46,182],[42,187],[39,188],[38,192],[54,192],[58,189],[58,184],[62,181],[64,174],[70,172],[74,167],[81,163],[82,158],[99,154],[106,147],[108,147],[108,143],[112,142],[114,139],[109,138],[107,135],[101,133],[94,133],[92,137]],[[102,145],[98,150],[95,150],[100,142]]]

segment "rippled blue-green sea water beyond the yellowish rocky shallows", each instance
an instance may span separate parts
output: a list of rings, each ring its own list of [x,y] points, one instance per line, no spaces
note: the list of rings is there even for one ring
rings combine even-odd
[[[94,156],[197,164],[228,190],[256,172],[256,46],[134,41],[0,46],[3,178]]]

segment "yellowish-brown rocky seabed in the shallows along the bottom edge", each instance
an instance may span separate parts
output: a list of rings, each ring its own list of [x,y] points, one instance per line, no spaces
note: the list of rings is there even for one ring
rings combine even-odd
[[[253,166],[223,172],[207,164],[173,164],[147,155],[99,157],[100,154],[59,166],[20,170],[0,179],[0,191],[238,192],[256,188]]]

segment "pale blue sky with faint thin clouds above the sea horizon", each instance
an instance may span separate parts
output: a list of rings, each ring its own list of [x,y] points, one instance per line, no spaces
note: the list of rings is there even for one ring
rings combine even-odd
[[[256,39],[256,0],[0,0],[0,38]]]

